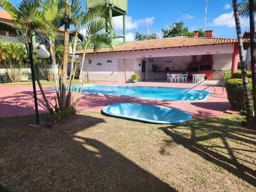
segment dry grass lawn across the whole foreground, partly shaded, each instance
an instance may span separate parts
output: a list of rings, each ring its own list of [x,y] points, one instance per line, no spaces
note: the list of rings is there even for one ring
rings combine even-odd
[[[0,118],[0,190],[255,191],[256,131],[242,119],[159,125],[83,111],[50,129],[29,127],[34,115]]]

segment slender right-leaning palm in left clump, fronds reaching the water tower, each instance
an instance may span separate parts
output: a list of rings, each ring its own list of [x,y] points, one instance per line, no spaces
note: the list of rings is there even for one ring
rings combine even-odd
[[[70,69],[70,75],[69,75],[70,81],[67,89],[66,107],[72,107],[74,110],[76,110],[74,103],[78,103],[78,102],[75,102],[76,99],[73,99],[73,102],[72,102],[73,104],[71,105],[72,82],[75,78],[75,72],[78,67],[77,63],[75,63],[74,65],[75,52],[77,49],[78,37],[83,38],[83,36],[79,33],[79,31],[83,28],[86,28],[87,37],[84,37],[84,38],[86,39],[87,44],[85,45],[85,49],[88,49],[90,45],[90,46],[93,46],[95,50],[97,50],[98,47],[102,44],[102,42],[111,46],[111,43],[110,43],[111,38],[109,38],[106,34],[105,35],[99,34],[99,32],[101,32],[103,29],[106,29],[106,26],[109,26],[109,29],[111,29],[111,25],[108,23],[109,20],[106,19],[107,17],[108,17],[108,11],[105,6],[102,6],[102,5],[95,6],[85,13],[81,6],[80,0],[71,1],[70,24],[74,26],[74,30],[72,31],[72,34],[74,35],[74,38],[73,38],[74,43],[73,43],[73,51],[72,51],[73,54],[71,58],[71,69]],[[82,62],[81,69],[83,69],[83,62]],[[79,79],[81,79],[81,73],[79,74]],[[77,87],[79,87],[79,83]],[[75,95],[75,98],[76,96],[77,94]]]

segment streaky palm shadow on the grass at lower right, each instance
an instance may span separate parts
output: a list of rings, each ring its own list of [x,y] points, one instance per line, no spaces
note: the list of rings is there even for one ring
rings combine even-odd
[[[256,131],[243,129],[238,125],[241,122],[223,118],[200,122],[193,119],[186,125],[159,128],[171,137],[171,140],[165,141],[165,147],[175,142],[256,186],[256,171],[251,169],[256,153],[256,141],[252,135]]]

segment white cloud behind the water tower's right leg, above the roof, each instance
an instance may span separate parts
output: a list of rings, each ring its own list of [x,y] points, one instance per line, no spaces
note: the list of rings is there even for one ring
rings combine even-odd
[[[153,25],[154,17],[145,19],[133,19],[130,16],[126,16],[125,27],[127,30],[137,29],[140,25]],[[113,18],[113,25],[116,31],[123,29],[123,16]]]

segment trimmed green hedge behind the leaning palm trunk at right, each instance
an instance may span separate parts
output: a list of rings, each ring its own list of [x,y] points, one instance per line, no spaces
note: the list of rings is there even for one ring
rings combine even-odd
[[[249,89],[252,95],[252,79],[248,78]],[[226,82],[228,100],[233,109],[245,113],[246,105],[244,99],[243,82],[241,78],[228,79]]]

